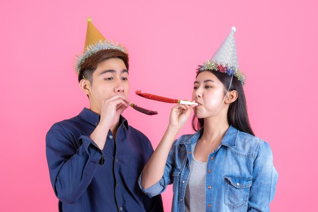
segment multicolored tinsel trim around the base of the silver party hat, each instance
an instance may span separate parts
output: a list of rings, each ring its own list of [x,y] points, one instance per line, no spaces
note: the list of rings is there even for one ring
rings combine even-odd
[[[203,63],[203,65],[199,65],[199,68],[197,69],[197,73],[206,71],[206,70],[212,70],[212,71],[218,71],[222,73],[226,73],[230,76],[235,76],[242,85],[244,85],[246,76],[243,72],[241,72],[238,68],[235,67],[228,67],[226,65],[223,65],[221,63],[215,63],[211,60],[208,60],[206,63]]]

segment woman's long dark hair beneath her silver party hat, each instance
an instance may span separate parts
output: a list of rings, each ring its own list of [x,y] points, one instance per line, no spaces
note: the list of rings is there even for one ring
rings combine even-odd
[[[212,74],[214,74],[218,80],[220,80],[224,87],[225,87],[225,93],[226,95],[227,90],[231,83],[232,76],[229,76],[226,73],[213,71],[213,70],[206,70]],[[200,72],[197,74],[197,76],[200,74]],[[230,125],[235,127],[241,132],[245,132],[251,135],[255,135],[250,127],[248,115],[247,115],[247,109],[246,109],[246,99],[244,95],[244,90],[241,82],[236,78],[233,77],[231,87],[229,91],[236,90],[238,93],[238,98],[236,101],[230,104],[229,110],[228,110],[228,122]],[[195,115],[192,119],[192,128],[195,131],[200,130],[204,126],[204,119],[203,118],[197,118]]]

